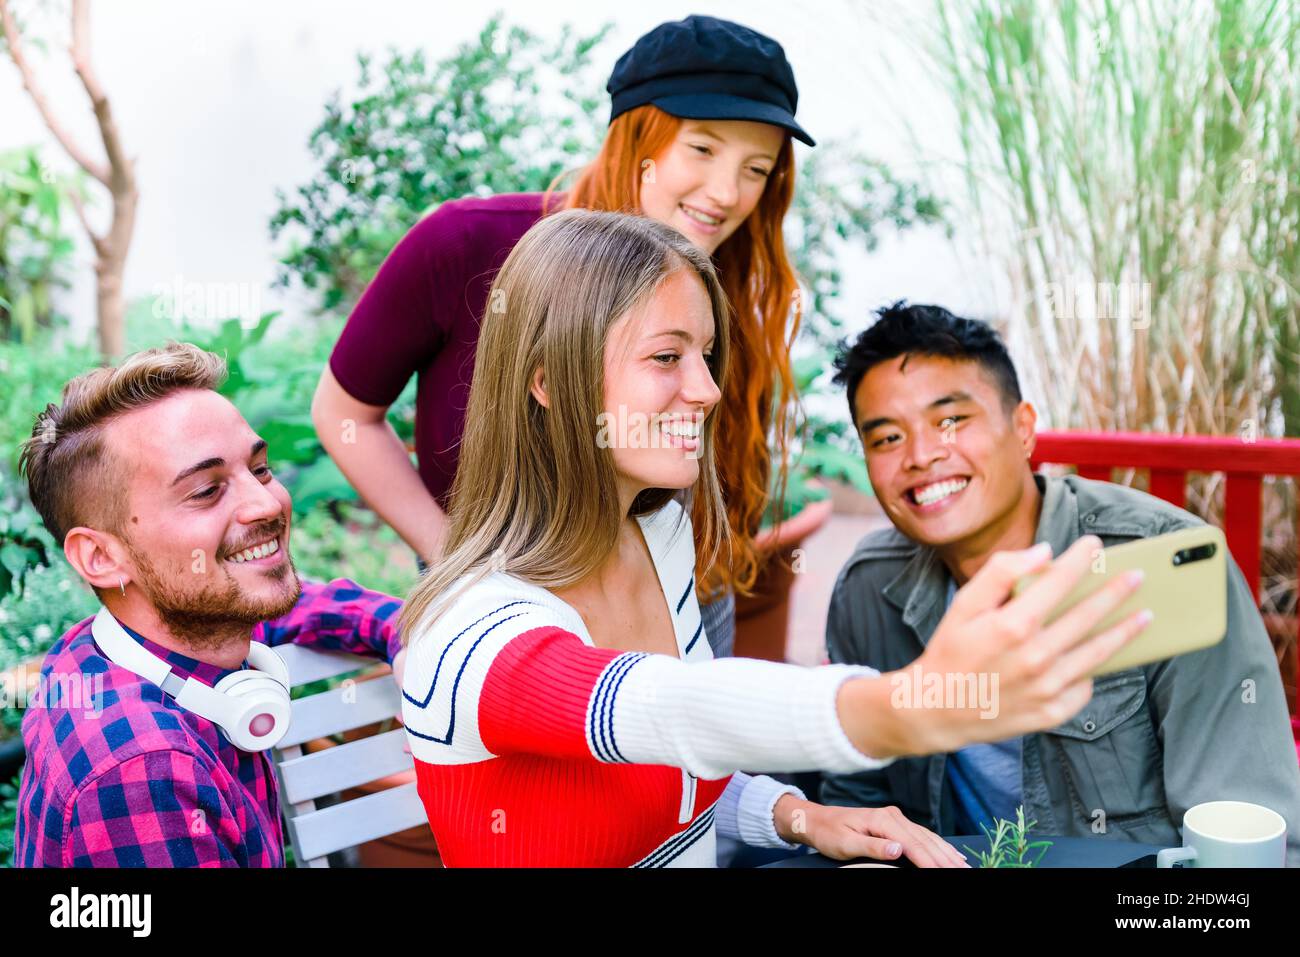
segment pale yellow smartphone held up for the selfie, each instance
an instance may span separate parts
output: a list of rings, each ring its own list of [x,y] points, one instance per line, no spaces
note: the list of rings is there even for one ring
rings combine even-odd
[[[1052,624],[1108,581],[1134,568],[1145,572],[1141,585],[1089,636],[1143,609],[1150,609],[1154,618],[1136,638],[1093,671],[1095,677],[1197,651],[1217,645],[1227,633],[1227,541],[1213,525],[1183,528],[1101,549],[1093,559],[1092,573],[1062,599],[1046,623]],[[1020,579],[1014,593],[1023,592],[1036,577]]]

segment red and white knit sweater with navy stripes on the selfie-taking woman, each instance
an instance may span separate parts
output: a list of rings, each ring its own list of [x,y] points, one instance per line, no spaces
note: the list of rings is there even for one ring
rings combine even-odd
[[[737,768],[888,763],[858,752],[835,710],[844,680],[875,671],[715,661],[689,519],[671,502],[641,527],[680,659],[595,648],[569,605],[503,573],[413,636],[403,719],[448,866],[712,867],[714,813]],[[741,800],[731,836],[760,843],[776,797]]]

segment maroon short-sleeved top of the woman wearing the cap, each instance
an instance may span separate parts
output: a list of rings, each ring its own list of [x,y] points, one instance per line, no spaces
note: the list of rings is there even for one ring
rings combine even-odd
[[[391,404],[411,376],[420,477],[442,508],[460,459],[478,321],[493,277],[542,215],[541,192],[443,203],[384,260],[348,316],[329,367],[343,390]],[[551,195],[551,209],[564,204]]]

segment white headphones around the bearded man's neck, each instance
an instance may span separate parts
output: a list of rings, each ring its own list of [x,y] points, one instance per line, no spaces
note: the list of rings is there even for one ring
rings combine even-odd
[[[289,731],[289,668],[260,641],[248,642],[250,668],[226,675],[209,688],[172,674],[172,666],[147,651],[127,635],[108,609],[91,624],[95,644],[113,664],[152,681],[186,711],[207,718],[225,732],[235,748],[264,752]]]

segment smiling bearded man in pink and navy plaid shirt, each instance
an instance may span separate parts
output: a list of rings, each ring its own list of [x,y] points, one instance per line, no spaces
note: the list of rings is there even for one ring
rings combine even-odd
[[[23,446],[46,527],[172,676],[160,687],[117,664],[92,619],[55,644],[39,687],[75,676],[94,696],[38,696],[23,719],[16,866],[283,866],[268,752],[235,746],[173,693],[244,668],[254,641],[390,662],[400,650],[400,602],[347,580],[299,583],[289,493],[214,391],[224,377],[194,346],[139,352],[69,382]]]

